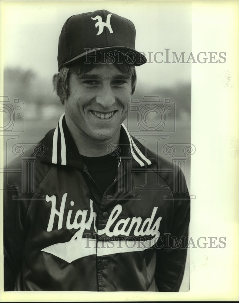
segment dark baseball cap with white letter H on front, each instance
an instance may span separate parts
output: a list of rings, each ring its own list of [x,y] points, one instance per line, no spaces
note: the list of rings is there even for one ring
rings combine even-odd
[[[123,52],[128,63],[142,65],[147,60],[135,50],[135,34],[133,22],[104,9],[73,15],[59,36],[58,68],[96,51]]]

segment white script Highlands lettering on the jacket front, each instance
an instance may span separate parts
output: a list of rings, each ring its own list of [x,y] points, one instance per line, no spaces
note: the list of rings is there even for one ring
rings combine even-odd
[[[51,201],[51,214],[50,214],[50,218],[49,218],[47,231],[52,231],[55,217],[58,217],[57,229],[59,230],[62,228],[63,216],[64,216],[65,205],[66,205],[66,197],[67,197],[67,192],[62,196],[60,210],[58,211],[56,209],[56,196],[52,195],[51,197],[49,197],[49,195],[46,195],[46,201],[47,202]],[[74,205],[74,201],[70,201],[70,203],[71,203],[71,206]],[[158,209],[158,207],[154,207],[151,217],[146,218],[144,221],[142,220],[141,217],[132,217],[132,218],[128,217],[126,219],[120,219],[117,221],[119,215],[122,212],[122,205],[117,204],[113,208],[113,210],[108,218],[108,221],[106,223],[106,226],[103,229],[98,230],[98,235],[106,234],[109,237],[118,236],[118,235],[129,236],[131,231],[133,231],[133,234],[135,236],[152,235],[154,237],[159,237],[158,229],[159,229],[160,221],[161,221],[162,217],[157,218],[157,220],[153,224],[157,209]],[[83,210],[79,209],[76,212],[73,223],[70,223],[71,216],[72,216],[72,210],[68,211],[67,219],[66,219],[66,228],[69,230],[72,228],[79,229],[76,232],[76,234],[73,236],[72,240],[76,239],[78,237],[82,238],[84,231],[91,229],[92,223],[93,223],[94,231],[97,232],[96,212],[93,211],[93,201],[91,199],[90,199],[90,215],[89,215],[89,219],[86,221],[87,213],[88,213],[87,209],[83,209]],[[80,217],[81,217],[81,221],[78,223]],[[142,221],[143,221],[143,224],[142,224]],[[116,224],[115,224],[115,222],[116,222]],[[112,226],[114,224],[115,224],[115,226],[113,228],[113,231],[110,231],[110,230],[112,230]],[[127,227],[127,226],[129,226],[129,227]],[[134,227],[134,229],[133,229],[133,227]]]

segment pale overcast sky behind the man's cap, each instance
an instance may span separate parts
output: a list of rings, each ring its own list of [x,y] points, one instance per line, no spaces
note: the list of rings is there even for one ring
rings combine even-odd
[[[107,9],[130,19],[136,28],[136,50],[146,53],[191,51],[190,2],[155,1],[2,1],[1,37],[4,67],[32,69],[49,79],[58,71],[58,38],[66,19]],[[161,61],[161,55],[157,55]],[[190,82],[191,64],[147,63],[136,69],[138,84],[172,86]]]

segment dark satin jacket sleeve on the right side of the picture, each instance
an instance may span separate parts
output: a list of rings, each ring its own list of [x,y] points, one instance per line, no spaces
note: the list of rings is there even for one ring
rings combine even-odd
[[[156,247],[155,281],[158,291],[176,292],[179,291],[184,274],[190,221],[190,195],[178,166],[173,168],[171,184],[174,216],[171,229],[163,235],[163,240]]]

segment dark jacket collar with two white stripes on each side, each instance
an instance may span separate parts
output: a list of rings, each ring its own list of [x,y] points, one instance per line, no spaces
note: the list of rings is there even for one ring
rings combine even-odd
[[[55,129],[49,131],[43,139],[46,152],[43,161],[47,163],[85,168],[76,144],[66,125],[65,113],[59,119]],[[133,138],[122,123],[120,131],[120,159],[130,157],[132,167],[146,167],[156,163],[148,150]],[[147,154],[147,155],[146,155]]]

